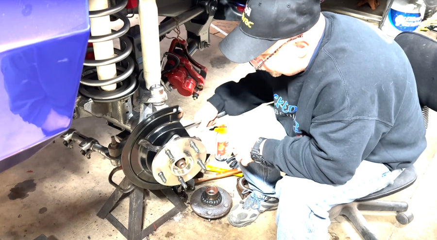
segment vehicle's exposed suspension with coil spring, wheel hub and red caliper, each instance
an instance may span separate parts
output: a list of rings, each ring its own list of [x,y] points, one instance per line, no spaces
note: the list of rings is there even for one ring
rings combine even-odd
[[[103,118],[120,133],[112,137],[109,146],[75,129],[61,137],[67,147],[78,144],[88,158],[96,152],[109,159],[135,186],[163,189],[180,185],[186,189],[186,182],[205,170],[206,150],[180,123],[182,109],[168,106],[168,94],[191,97],[193,102],[199,97],[207,84],[207,69],[192,54],[210,45],[209,26],[216,12],[218,18],[235,19],[239,14],[236,7],[244,3],[135,3],[89,1],[91,36],[73,115],[75,119]],[[112,29],[121,22],[118,30]],[[181,25],[187,31],[186,39],[180,36]],[[173,30],[178,34],[161,54],[160,41]]]

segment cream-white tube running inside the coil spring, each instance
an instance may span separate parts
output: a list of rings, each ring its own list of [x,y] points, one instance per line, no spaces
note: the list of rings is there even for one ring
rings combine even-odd
[[[88,0],[89,10],[96,11],[108,8],[107,0]],[[109,16],[103,17],[91,17],[90,27],[92,36],[100,36],[111,34],[111,21]],[[96,60],[107,59],[114,56],[114,43],[112,40],[104,42],[93,43],[94,56]],[[111,79],[117,75],[117,69],[115,64],[97,66],[97,76],[99,80]],[[117,85],[102,86],[101,88],[106,91],[116,89]]]

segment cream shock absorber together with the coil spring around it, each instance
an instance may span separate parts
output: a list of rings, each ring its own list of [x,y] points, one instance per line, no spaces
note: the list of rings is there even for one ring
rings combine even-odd
[[[107,0],[89,0],[91,37],[88,42],[93,47],[89,47],[87,52],[94,51],[95,59],[84,62],[79,92],[94,102],[115,102],[131,96],[138,87],[132,74],[134,60],[129,56],[133,46],[123,36],[129,31],[130,21],[119,13],[127,3],[128,0],[121,0],[117,5],[108,7]],[[110,16],[123,21],[119,30],[111,30]],[[120,40],[120,50],[113,46],[116,38]]]

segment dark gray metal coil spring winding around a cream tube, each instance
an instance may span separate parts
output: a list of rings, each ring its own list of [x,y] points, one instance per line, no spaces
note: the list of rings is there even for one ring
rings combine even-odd
[[[120,48],[123,49],[114,49],[116,55],[108,59],[85,60],[84,66],[86,67],[84,67],[84,70],[82,72],[81,86],[79,87],[79,92],[95,102],[114,102],[123,99],[134,94],[135,90],[138,87],[137,81],[132,74],[134,72],[134,60],[129,56],[129,54],[132,52],[133,46],[131,41],[123,36],[129,31],[130,21],[126,16],[118,13],[126,7],[127,3],[128,0],[123,0],[118,5],[98,11],[89,12],[90,18],[111,15],[123,21],[123,26],[119,30],[113,31],[111,34],[91,36],[88,40],[89,43],[95,43],[119,38]],[[88,51],[92,51],[92,48],[88,48],[87,52]],[[117,65],[117,76],[107,80],[96,79],[97,66],[104,66],[119,62],[121,62],[123,66],[126,66],[127,64],[127,68]],[[112,84],[118,84],[115,90],[104,91],[101,89],[101,86],[108,86]]]

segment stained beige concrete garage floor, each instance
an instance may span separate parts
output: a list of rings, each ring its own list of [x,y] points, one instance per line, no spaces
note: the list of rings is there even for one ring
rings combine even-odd
[[[168,42],[165,41],[168,40],[165,39],[162,43],[161,52],[168,48]],[[218,51],[219,37],[211,36],[211,41],[210,48],[194,55],[198,62],[208,68],[206,87],[200,98],[193,101],[175,92],[169,94],[168,104],[179,104],[185,110],[182,120],[184,125],[192,122],[194,113],[211,96],[216,86],[229,80],[238,80],[252,71],[248,64],[231,63]],[[390,200],[408,202],[415,216],[414,221],[401,225],[396,222],[393,213],[365,214],[371,229],[381,240],[437,239],[437,194],[432,190],[437,182],[437,161],[434,160],[437,146],[436,122],[437,114],[432,112],[427,133],[428,148],[415,164],[418,180],[410,188],[389,197]],[[97,118],[75,120],[72,127],[88,137],[98,139],[102,145],[109,144],[110,136],[118,133],[106,126],[104,120]],[[200,135],[210,149],[215,135],[210,132]],[[41,234],[50,240],[125,239],[107,220],[96,216],[114,191],[114,187],[107,181],[113,166],[98,154],[91,156],[91,159],[84,158],[78,147],[67,149],[59,139],[30,159],[1,172],[0,240],[33,240]],[[223,167],[222,163],[220,165],[215,160],[210,161],[210,164]],[[118,182],[122,178],[121,172],[114,177]],[[219,186],[228,191],[232,201],[237,203],[240,197],[235,184],[236,177],[231,176],[201,184],[197,189],[207,185]],[[191,193],[188,192],[188,195]],[[144,203],[145,225],[149,225],[172,207],[165,199],[157,198],[153,194]],[[187,205],[183,212],[164,223],[146,239],[275,239],[276,211],[261,214],[255,223],[247,227],[235,228],[225,217],[208,222],[192,211],[189,201]],[[113,211],[125,225],[128,209],[128,199],[124,199]],[[342,217],[333,221],[328,237],[331,240],[360,239],[353,226]]]

